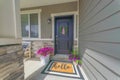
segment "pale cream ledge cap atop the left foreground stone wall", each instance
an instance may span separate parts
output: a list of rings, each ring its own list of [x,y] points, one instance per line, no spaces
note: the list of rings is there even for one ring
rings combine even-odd
[[[22,39],[15,38],[0,38],[0,45],[21,44]]]

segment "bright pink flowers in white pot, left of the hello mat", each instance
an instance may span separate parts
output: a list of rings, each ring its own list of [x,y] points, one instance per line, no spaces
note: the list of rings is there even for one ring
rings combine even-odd
[[[52,47],[44,47],[37,50],[36,55],[40,56],[41,64],[45,65],[49,62],[50,54],[53,54]]]

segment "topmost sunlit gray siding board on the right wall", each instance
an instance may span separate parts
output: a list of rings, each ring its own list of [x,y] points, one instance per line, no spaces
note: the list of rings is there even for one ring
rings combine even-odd
[[[119,64],[120,62],[119,62],[119,60],[112,58],[110,56],[104,55],[104,54],[100,54],[95,51],[93,52],[92,50],[87,50],[86,54],[89,57],[93,58],[95,61],[102,64],[107,69],[109,69],[111,72],[113,72],[114,74],[116,74],[117,76],[120,77],[120,64]],[[111,64],[111,62],[112,62],[112,64]]]

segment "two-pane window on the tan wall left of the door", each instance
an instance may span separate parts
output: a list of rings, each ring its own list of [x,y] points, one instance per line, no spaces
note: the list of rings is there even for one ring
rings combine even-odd
[[[40,38],[38,12],[28,12],[21,14],[21,29],[23,38]]]

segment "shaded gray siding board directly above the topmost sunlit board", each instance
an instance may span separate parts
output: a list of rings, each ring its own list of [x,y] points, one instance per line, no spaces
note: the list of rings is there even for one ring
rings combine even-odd
[[[120,44],[115,43],[107,43],[107,42],[89,42],[86,41],[84,46],[88,49],[95,50],[101,54],[106,54],[112,56],[113,58],[117,58],[120,60]]]

